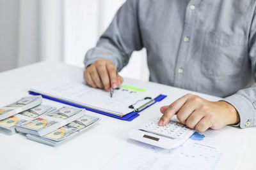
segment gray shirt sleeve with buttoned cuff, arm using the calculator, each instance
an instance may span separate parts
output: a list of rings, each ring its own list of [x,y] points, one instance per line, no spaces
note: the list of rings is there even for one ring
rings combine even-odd
[[[256,80],[256,18],[255,12],[250,29],[249,58],[252,64],[252,74]],[[232,104],[239,113],[241,128],[256,126],[256,83],[247,89],[239,90],[236,94],[223,99]]]

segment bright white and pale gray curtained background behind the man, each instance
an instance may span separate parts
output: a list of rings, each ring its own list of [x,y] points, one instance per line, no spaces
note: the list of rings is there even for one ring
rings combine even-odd
[[[0,0],[0,71],[40,60],[83,67],[86,51],[125,0]],[[135,52],[122,76],[148,80],[146,52]]]

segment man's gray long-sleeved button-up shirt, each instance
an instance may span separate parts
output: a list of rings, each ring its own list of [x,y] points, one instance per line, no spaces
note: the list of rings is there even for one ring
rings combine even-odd
[[[120,71],[146,48],[150,81],[225,97],[240,127],[256,126],[255,3],[128,0],[84,64],[110,59]]]

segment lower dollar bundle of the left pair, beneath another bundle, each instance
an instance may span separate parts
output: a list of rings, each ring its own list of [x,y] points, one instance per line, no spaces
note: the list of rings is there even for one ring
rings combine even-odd
[[[51,111],[56,110],[54,106],[47,106],[44,104],[40,104],[35,108],[31,108],[26,111],[22,111],[16,115],[5,118],[4,120],[0,120],[0,132],[3,134],[12,135],[15,134],[15,126],[22,124],[24,122],[33,120],[34,118],[43,115],[45,113],[49,113]]]

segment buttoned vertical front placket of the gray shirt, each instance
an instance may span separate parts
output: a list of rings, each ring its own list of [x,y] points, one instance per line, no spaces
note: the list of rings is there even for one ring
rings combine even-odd
[[[177,62],[175,65],[175,81],[174,86],[175,87],[181,87],[184,88],[184,74],[188,74],[186,71],[186,61],[189,59],[190,53],[189,53],[189,46],[191,46],[192,38],[192,32],[194,29],[195,24],[195,12],[196,12],[196,6],[198,6],[200,3],[200,0],[191,0],[188,3],[188,6],[186,8],[186,17],[184,21],[184,29],[182,33],[182,37],[180,40],[180,48],[179,48],[179,55],[177,57]]]

